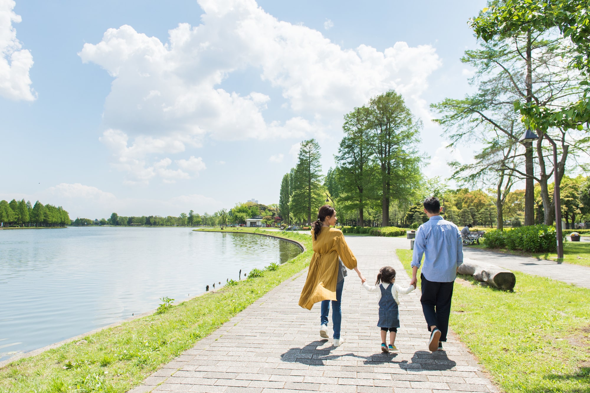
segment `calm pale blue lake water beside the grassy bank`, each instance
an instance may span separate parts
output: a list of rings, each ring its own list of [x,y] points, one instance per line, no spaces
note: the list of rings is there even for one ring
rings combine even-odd
[[[0,231],[0,361],[300,252],[274,238],[189,228]]]

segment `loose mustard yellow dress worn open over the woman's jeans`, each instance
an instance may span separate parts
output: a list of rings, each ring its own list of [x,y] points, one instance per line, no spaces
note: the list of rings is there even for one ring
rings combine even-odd
[[[342,231],[332,227],[322,227],[317,240],[313,240],[312,261],[299,297],[301,307],[311,310],[314,303],[322,300],[336,300],[338,257],[347,268],[356,267],[356,258],[348,248]]]

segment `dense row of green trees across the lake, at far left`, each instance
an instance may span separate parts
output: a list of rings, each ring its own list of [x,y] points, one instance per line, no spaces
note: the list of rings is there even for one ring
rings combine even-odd
[[[64,227],[71,223],[70,215],[61,206],[43,205],[24,199],[17,201],[0,201],[0,222],[4,227],[18,225],[19,227]]]

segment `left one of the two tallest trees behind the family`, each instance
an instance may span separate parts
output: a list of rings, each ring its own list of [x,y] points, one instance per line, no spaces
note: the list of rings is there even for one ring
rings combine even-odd
[[[365,226],[365,208],[375,198],[375,165],[373,165],[373,152],[371,150],[371,119],[367,107],[355,108],[344,117],[342,130],[344,137],[340,141],[337,163],[338,178],[333,181],[338,185],[340,200],[356,209],[359,213],[358,225]],[[330,176],[332,173],[328,173]],[[334,176],[335,177],[335,176]],[[336,185],[328,185],[336,189]],[[388,208],[389,209],[389,208]]]

